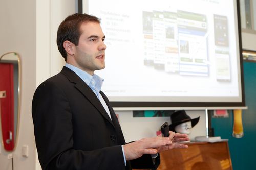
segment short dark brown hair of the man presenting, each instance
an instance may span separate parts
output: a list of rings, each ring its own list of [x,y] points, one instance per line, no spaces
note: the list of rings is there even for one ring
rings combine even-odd
[[[65,58],[65,61],[67,60],[67,52],[63,47],[63,42],[70,41],[73,44],[78,45],[81,35],[80,26],[84,22],[100,23],[100,19],[92,15],[76,13],[68,16],[59,25],[57,32],[57,45],[59,52],[62,57]]]

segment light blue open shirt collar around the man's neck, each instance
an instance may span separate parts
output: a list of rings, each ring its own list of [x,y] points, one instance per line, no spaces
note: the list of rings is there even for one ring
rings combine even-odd
[[[86,71],[81,70],[71,64],[66,63],[66,67],[74,71],[77,76],[79,76],[91,89],[94,89],[96,92],[101,90],[104,79],[99,77],[96,74],[90,75]]]

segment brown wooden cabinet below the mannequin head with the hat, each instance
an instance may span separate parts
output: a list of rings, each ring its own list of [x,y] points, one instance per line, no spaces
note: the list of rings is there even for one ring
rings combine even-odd
[[[228,142],[190,142],[186,149],[160,153],[158,170],[232,170]]]

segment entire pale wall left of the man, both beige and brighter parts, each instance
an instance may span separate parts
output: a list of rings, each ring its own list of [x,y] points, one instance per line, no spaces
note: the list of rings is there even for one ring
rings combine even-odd
[[[63,58],[56,45],[57,27],[67,15],[76,12],[76,0],[8,0],[0,1],[0,55],[15,51],[22,62],[22,93],[20,130],[14,152],[6,152],[0,145],[0,169],[34,170],[36,148],[31,116],[31,104],[38,84],[58,72]],[[0,135],[2,141],[2,134]],[[2,142],[1,142],[2,143]],[[28,145],[29,157],[22,156],[22,146]]]

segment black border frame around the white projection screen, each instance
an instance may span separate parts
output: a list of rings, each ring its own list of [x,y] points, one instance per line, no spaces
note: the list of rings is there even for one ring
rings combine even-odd
[[[234,1],[237,4],[237,28],[239,41],[240,59],[240,76],[241,76],[241,102],[127,102],[127,101],[110,101],[114,110],[177,110],[177,109],[247,109],[245,105],[244,94],[244,72],[243,72],[243,55],[242,55],[242,34],[240,19],[240,3],[239,0]],[[83,0],[78,0],[78,13],[83,13]]]

